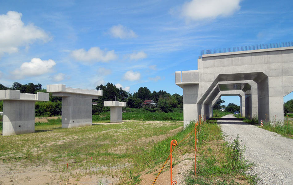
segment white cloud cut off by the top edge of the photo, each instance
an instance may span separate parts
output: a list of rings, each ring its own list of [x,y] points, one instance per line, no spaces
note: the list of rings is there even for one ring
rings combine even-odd
[[[228,16],[240,9],[240,0],[192,0],[182,6],[182,15],[188,20],[214,19]]]

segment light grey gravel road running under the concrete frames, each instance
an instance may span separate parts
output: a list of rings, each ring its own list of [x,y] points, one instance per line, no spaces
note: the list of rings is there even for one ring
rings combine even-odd
[[[232,114],[218,120],[226,140],[239,134],[245,144],[244,156],[255,162],[249,174],[258,174],[258,184],[293,185],[293,139],[244,123]]]

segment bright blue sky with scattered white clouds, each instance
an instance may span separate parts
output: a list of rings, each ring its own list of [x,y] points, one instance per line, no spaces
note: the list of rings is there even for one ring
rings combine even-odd
[[[0,1],[0,83],[182,94],[198,51],[293,39],[293,2]],[[239,105],[239,97],[225,97]],[[292,93],[284,101],[293,99]]]

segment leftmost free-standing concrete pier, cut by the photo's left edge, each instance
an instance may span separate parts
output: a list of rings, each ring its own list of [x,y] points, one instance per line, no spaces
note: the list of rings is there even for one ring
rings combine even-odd
[[[18,90],[0,90],[3,100],[2,135],[35,132],[35,101],[49,101],[49,93],[20,93]]]

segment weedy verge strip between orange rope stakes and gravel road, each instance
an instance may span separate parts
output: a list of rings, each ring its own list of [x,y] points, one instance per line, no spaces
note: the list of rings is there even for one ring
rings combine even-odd
[[[224,142],[222,131],[215,120],[208,120],[203,126],[199,133],[196,176],[195,168],[193,168],[186,174],[185,183],[187,185],[238,185],[239,181],[244,180],[247,184],[256,184],[256,175],[244,173],[254,163],[244,158],[245,147],[241,145],[239,136],[237,135],[232,143]]]

